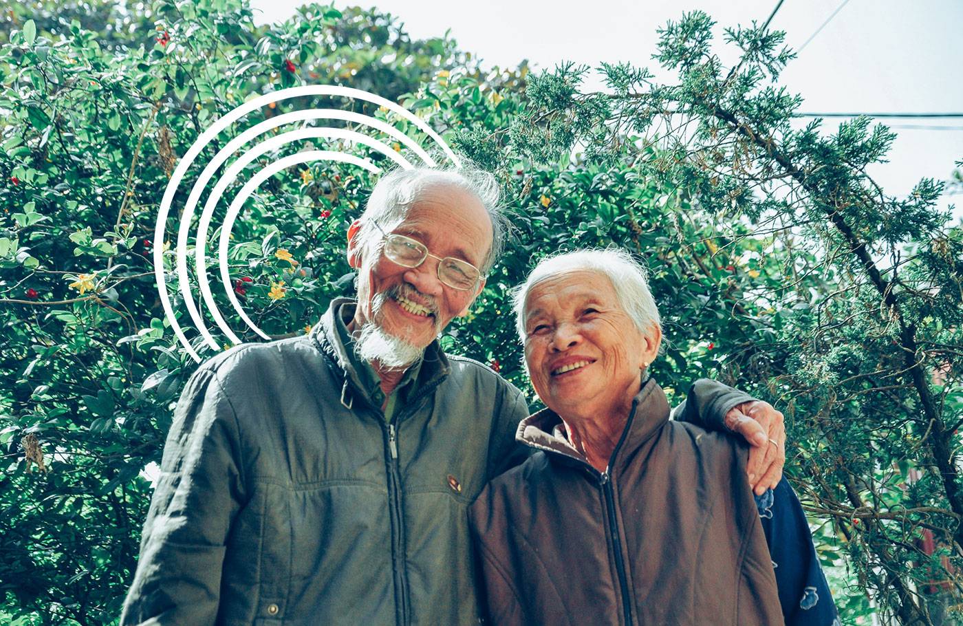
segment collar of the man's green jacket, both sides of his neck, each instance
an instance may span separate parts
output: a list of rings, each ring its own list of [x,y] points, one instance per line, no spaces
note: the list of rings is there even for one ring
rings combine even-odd
[[[335,327],[335,316],[347,322],[354,316],[354,307],[357,300],[351,298],[336,298],[331,300],[327,311],[322,316],[321,321],[311,329],[311,339],[317,347],[324,352],[329,362],[336,367],[336,376],[345,379],[345,385],[351,385],[352,391],[362,397],[367,396],[362,377],[356,371],[350,354],[351,348],[345,346],[344,342]],[[415,384],[418,388],[428,388],[447,378],[451,372],[451,365],[448,357],[441,351],[438,340],[432,341],[425,349],[422,357],[421,369]],[[345,389],[342,389],[344,392]],[[342,393],[344,396],[344,393]],[[343,398],[344,402],[344,398]]]

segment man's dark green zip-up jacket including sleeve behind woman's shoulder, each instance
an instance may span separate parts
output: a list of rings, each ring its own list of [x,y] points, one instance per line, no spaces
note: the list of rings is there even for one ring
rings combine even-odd
[[[122,624],[477,624],[467,508],[527,456],[522,393],[425,352],[388,423],[334,316],[205,363],[177,404]],[[701,385],[701,386],[700,386]],[[748,396],[712,381],[687,419]]]

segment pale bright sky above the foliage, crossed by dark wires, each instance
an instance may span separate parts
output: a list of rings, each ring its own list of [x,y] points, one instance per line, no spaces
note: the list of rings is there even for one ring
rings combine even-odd
[[[762,23],[777,1],[379,0],[375,6],[397,15],[414,38],[438,37],[451,30],[461,49],[479,55],[484,66],[514,66],[528,59],[535,67],[550,68],[564,60],[654,66],[655,31],[667,20],[701,9],[716,19],[719,29],[753,19]],[[287,19],[301,4],[251,1],[259,23]],[[770,27],[785,30],[787,43],[799,49],[841,5],[783,74],[782,84],[803,96],[803,111],[963,112],[963,2],[785,0]],[[963,117],[887,121],[898,139],[890,163],[871,173],[888,193],[906,194],[924,176],[947,179],[953,163],[963,159]],[[838,120],[827,123],[835,125]],[[963,196],[944,196],[943,204],[950,203],[963,204]],[[963,206],[954,214],[963,216]]]

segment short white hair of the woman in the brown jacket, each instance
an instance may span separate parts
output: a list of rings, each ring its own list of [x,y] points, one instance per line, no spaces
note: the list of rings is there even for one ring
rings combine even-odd
[[[525,283],[512,295],[518,335],[525,342],[525,299],[535,284],[557,274],[577,270],[593,270],[605,274],[612,281],[618,303],[639,332],[648,334],[652,325],[662,327],[659,308],[649,291],[645,268],[631,254],[620,248],[583,249],[561,252],[543,258],[535,266]]]

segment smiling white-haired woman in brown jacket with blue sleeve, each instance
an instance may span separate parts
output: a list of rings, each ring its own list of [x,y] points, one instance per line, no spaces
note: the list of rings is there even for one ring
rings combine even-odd
[[[515,311],[547,408],[518,429],[538,452],[471,509],[491,623],[834,623],[788,484],[754,498],[744,444],[669,419],[648,376],[659,311],[627,253],[542,261]]]

